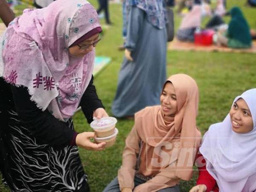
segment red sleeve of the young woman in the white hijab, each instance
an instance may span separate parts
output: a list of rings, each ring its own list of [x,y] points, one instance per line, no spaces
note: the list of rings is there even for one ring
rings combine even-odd
[[[203,155],[198,154],[196,160],[200,161],[199,163],[197,162],[198,165],[201,164],[201,166],[198,166],[199,176],[198,176],[198,180],[197,180],[196,184],[197,185],[205,184],[207,186],[206,192],[210,192],[215,188],[216,180],[207,171],[206,161],[205,161]]]

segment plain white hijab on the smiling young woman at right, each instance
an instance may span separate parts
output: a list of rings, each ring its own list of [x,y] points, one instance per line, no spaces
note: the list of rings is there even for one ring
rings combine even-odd
[[[240,98],[250,109],[253,130],[246,134],[234,132],[228,114],[223,122],[209,127],[199,149],[207,162],[207,171],[215,178],[220,192],[256,190],[255,180],[249,179],[256,177],[256,89],[245,91],[234,102]]]

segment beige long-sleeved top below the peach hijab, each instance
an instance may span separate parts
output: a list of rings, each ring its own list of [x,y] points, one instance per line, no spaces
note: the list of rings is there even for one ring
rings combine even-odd
[[[125,149],[122,155],[122,167],[118,171],[118,181],[120,190],[122,188],[129,187],[134,188],[134,176],[135,176],[135,166],[137,162],[137,155],[140,151],[140,141],[141,138],[137,134],[136,128],[133,128],[125,140]],[[146,159],[145,157],[145,145],[142,150],[141,159]],[[148,180],[144,184],[137,186],[133,192],[156,192],[160,189],[175,186],[179,182],[179,178],[175,176],[175,172],[170,171],[169,177],[156,174],[159,171],[147,170],[144,166],[140,166],[138,172],[145,176],[155,175],[151,180]]]

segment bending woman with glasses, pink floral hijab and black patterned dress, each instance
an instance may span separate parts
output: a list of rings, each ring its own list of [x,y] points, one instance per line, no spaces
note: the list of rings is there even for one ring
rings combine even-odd
[[[74,131],[72,116],[79,105],[88,122],[108,116],[92,78],[100,32],[86,0],[57,0],[24,10],[3,34],[0,170],[13,192],[89,192],[77,146],[105,143]]]

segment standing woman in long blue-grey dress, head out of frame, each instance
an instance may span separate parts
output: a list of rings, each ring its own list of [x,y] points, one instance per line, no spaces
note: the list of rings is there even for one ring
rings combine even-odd
[[[166,19],[163,0],[126,0],[128,31],[112,112],[133,116],[159,105],[166,79]]]

